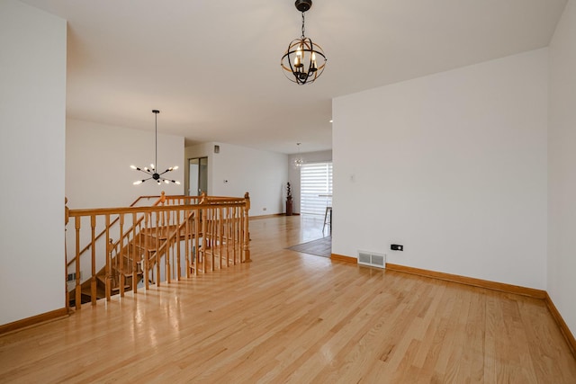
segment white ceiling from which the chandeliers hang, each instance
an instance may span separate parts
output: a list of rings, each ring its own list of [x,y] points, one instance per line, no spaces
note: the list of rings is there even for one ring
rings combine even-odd
[[[311,85],[280,58],[293,0],[22,0],[68,21],[67,117],[295,153],[331,147],[331,99],[548,45],[566,0],[315,0]]]

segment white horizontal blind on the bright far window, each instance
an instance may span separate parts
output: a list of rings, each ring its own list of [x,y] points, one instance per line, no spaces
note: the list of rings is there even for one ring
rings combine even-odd
[[[326,207],[331,205],[332,163],[302,165],[300,168],[301,213],[324,215]]]

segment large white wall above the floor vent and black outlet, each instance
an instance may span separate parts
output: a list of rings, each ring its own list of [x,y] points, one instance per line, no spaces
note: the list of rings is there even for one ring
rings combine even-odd
[[[545,289],[547,70],[539,49],[335,99],[332,252]]]

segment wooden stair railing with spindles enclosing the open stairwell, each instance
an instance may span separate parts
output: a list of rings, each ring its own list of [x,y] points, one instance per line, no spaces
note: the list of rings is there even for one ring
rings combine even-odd
[[[151,207],[66,208],[66,222],[72,220],[74,226],[74,257],[67,263],[74,281],[67,284],[67,296],[74,291],[79,309],[86,301],[95,305],[99,296],[123,296],[127,287],[137,293],[139,285],[148,290],[150,283],[159,286],[161,281],[249,262],[249,209],[247,193],[244,198],[163,195]],[[97,225],[105,226],[98,236],[105,241],[97,241]],[[81,250],[82,237],[90,241]],[[92,250],[89,259],[81,257],[85,249]],[[99,260],[101,275],[96,272]]]

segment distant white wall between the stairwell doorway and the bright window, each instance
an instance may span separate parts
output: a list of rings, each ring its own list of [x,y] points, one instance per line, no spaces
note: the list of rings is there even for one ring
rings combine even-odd
[[[220,153],[213,153],[213,146]],[[284,185],[288,180],[288,156],[225,143],[186,148],[186,156],[208,156],[208,193],[244,196],[250,193],[250,216],[284,212]]]

